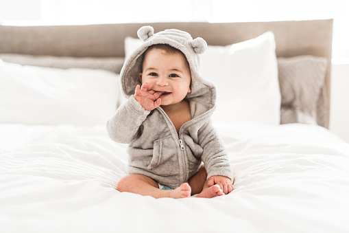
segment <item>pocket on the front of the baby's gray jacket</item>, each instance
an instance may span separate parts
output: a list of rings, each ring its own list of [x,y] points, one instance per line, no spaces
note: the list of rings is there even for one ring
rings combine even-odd
[[[179,173],[177,145],[171,136],[154,141],[153,157],[147,168],[157,175]]]

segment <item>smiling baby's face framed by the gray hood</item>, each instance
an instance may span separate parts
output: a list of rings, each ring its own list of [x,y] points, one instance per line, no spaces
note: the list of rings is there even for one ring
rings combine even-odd
[[[164,49],[152,48],[143,60],[143,71],[139,74],[142,84],[149,84],[147,91],[160,91],[161,105],[181,102],[191,92],[189,64],[180,52],[170,54]]]

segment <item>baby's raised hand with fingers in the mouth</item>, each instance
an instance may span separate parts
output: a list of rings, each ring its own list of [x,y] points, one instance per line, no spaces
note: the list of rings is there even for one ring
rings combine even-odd
[[[137,85],[134,91],[134,98],[142,105],[142,107],[147,111],[152,111],[156,109],[161,104],[161,92],[147,91],[148,83],[143,83],[142,87]]]

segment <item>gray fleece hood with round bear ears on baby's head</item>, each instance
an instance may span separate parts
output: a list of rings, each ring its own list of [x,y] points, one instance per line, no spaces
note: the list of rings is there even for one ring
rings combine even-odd
[[[154,34],[154,28],[151,26],[141,27],[137,35],[143,43],[125,60],[120,74],[125,97],[132,96],[136,85],[141,85],[139,74],[142,72],[143,53],[151,45],[166,44],[179,49],[188,60],[191,71],[191,93],[188,93],[186,98],[199,102],[206,106],[206,109],[215,106],[215,86],[204,80],[199,74],[199,54],[204,53],[207,49],[207,43],[203,38],[198,37],[193,40],[189,33],[176,29]]]

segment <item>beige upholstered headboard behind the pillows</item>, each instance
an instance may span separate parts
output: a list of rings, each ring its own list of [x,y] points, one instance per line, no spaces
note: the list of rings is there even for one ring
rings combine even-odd
[[[124,56],[125,36],[136,37],[142,25],[152,25],[155,32],[167,28],[185,30],[204,38],[208,45],[228,45],[272,31],[276,39],[276,55],[322,56],[328,60],[324,83],[326,124],[330,102],[330,60],[333,20],[277,21],[250,23],[123,23],[107,25],[1,26],[0,54],[32,54],[52,56]]]

